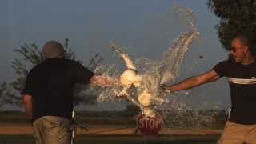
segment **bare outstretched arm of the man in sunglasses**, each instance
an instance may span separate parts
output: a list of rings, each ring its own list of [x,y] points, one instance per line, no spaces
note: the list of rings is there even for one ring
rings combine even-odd
[[[210,70],[204,74],[199,74],[195,77],[186,78],[182,82],[178,82],[174,85],[166,86],[166,89],[170,92],[187,90],[196,86],[200,86],[206,82],[216,81],[218,78],[220,78],[218,74],[214,70]]]

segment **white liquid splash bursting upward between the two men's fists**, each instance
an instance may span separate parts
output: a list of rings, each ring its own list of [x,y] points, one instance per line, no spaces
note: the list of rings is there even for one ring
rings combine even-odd
[[[189,14],[190,17],[194,15],[192,10],[184,6],[178,6],[177,10]],[[120,76],[122,86],[102,91],[98,101],[102,101],[102,98],[109,98],[110,95],[114,94],[118,98],[127,98],[130,102],[133,102],[142,110],[142,114],[154,117],[154,109],[164,102],[168,102],[167,94],[159,90],[160,85],[173,82],[178,77],[186,51],[190,48],[191,43],[200,37],[194,22],[187,22],[187,26],[189,26],[189,31],[174,39],[174,45],[166,50],[166,54],[158,62],[153,62],[150,59],[140,61],[142,65],[148,63],[151,65],[150,69],[144,72],[136,69],[135,62],[122,46],[110,42],[110,50],[118,54],[125,62],[127,70]]]

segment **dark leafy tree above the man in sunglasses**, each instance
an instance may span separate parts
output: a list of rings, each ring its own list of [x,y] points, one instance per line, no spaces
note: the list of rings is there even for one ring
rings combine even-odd
[[[251,46],[255,46],[255,0],[208,0],[207,6],[220,18],[216,29],[218,39],[226,50],[230,50],[230,42],[238,34],[248,35]],[[255,53],[255,50],[253,52]]]

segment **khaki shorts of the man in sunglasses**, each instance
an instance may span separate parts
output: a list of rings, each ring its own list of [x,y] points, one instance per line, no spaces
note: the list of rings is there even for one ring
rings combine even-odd
[[[256,144],[256,124],[242,125],[226,122],[218,144]]]

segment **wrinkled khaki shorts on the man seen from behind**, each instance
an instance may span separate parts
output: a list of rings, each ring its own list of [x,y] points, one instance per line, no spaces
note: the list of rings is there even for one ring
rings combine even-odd
[[[44,116],[33,122],[36,144],[70,144],[71,122],[69,119]]]

